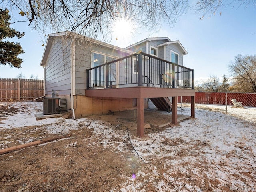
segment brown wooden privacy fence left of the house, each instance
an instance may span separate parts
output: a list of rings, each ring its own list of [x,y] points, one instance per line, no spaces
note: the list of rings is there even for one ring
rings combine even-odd
[[[44,96],[44,80],[0,79],[0,101],[32,100]]]

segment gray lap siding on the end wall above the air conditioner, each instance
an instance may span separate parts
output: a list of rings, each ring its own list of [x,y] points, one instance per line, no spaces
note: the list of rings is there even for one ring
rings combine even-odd
[[[59,95],[69,95],[70,81],[70,40],[57,37],[52,42],[45,64],[46,94],[54,90]]]

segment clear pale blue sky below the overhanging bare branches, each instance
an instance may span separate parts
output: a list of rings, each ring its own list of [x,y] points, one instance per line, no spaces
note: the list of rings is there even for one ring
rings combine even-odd
[[[125,48],[148,36],[179,40],[188,52],[188,55],[184,55],[183,65],[195,70],[195,82],[201,82],[210,75],[221,80],[223,74],[229,75],[227,65],[236,55],[256,54],[256,8],[238,7],[234,3],[209,18],[200,20],[201,17],[201,14],[188,12],[179,18],[173,28],[164,24],[155,33],[137,30],[132,36],[115,34],[110,43]],[[18,40],[25,51],[19,56],[23,59],[22,68],[0,65],[0,78],[16,78],[22,73],[26,78],[33,74],[43,79],[44,70],[40,62],[45,47],[42,44],[46,43],[44,37],[24,22],[12,24],[11,27],[25,32],[25,36]]]

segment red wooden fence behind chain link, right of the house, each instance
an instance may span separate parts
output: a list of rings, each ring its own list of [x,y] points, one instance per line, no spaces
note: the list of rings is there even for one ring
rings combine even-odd
[[[227,93],[227,104],[233,105],[231,99],[242,102],[243,106],[256,107],[256,93]],[[196,92],[196,103],[226,105],[226,93],[219,92]],[[181,102],[181,97],[178,97]],[[190,103],[190,97],[182,97],[183,103]]]

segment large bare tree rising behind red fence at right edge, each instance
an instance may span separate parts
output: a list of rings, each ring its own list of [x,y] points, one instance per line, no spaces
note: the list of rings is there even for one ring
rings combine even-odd
[[[232,90],[256,93],[256,55],[237,55],[228,69],[233,75]]]

